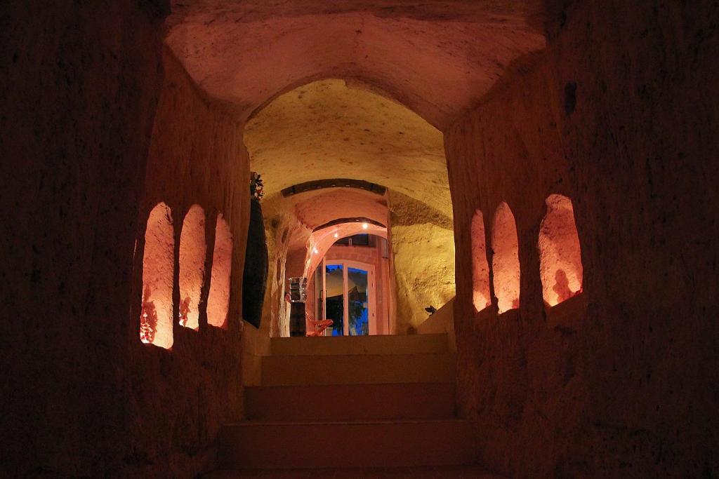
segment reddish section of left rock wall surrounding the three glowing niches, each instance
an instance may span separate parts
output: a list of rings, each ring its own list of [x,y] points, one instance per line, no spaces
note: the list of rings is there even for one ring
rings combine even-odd
[[[175,320],[172,350],[142,345],[137,339],[145,238],[142,220],[160,201],[172,210],[175,271],[184,216],[197,204],[207,217],[208,253],[199,330],[180,327]],[[242,125],[206,101],[169,52],[165,52],[165,83],[155,115],[139,212],[127,334],[129,371],[124,410],[129,437],[122,438],[128,449],[125,461],[135,475],[193,477],[214,467],[214,440],[221,424],[242,417],[239,343],[249,225],[249,162],[242,144]],[[219,215],[228,223],[233,239],[226,329],[208,325],[206,312]],[[180,302],[177,278],[175,272],[175,318]]]

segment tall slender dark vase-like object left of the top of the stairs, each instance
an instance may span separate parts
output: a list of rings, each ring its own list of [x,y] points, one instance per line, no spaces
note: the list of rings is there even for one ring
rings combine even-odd
[[[242,316],[249,324],[260,327],[262,303],[267,287],[267,241],[262,206],[257,200],[249,202],[249,231],[244,255],[242,276]]]

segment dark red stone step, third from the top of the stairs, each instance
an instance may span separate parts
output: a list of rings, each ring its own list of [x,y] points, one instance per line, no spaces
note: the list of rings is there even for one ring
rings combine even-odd
[[[342,421],[454,417],[453,383],[255,386],[244,389],[247,419]]]

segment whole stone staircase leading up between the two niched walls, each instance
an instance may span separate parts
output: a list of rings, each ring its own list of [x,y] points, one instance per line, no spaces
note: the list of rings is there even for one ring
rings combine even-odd
[[[472,464],[454,414],[446,334],[273,338],[247,420],[219,439],[225,471]]]

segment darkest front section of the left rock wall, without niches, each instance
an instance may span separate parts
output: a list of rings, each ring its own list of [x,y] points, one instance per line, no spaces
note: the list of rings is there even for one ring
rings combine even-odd
[[[0,3],[4,477],[122,461],[122,338],[167,11]]]

